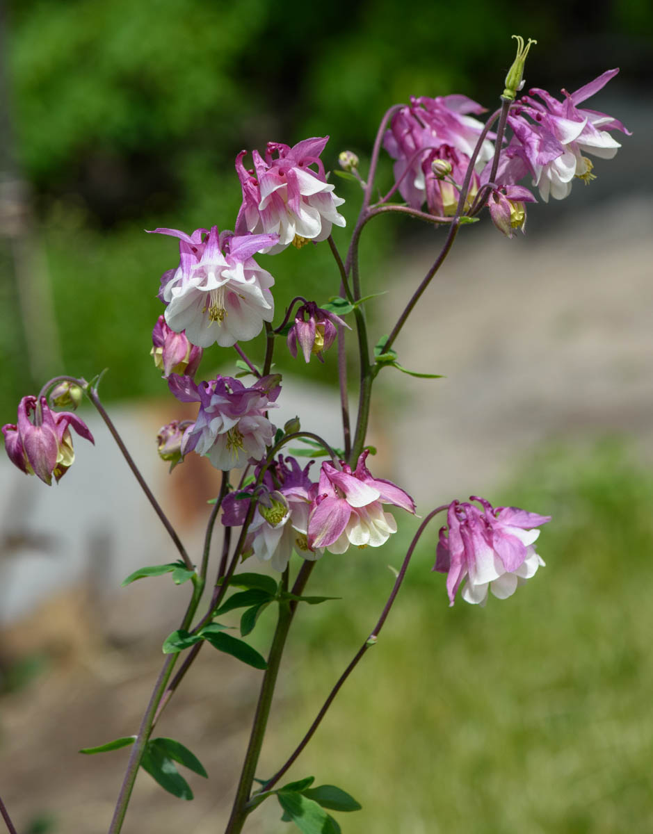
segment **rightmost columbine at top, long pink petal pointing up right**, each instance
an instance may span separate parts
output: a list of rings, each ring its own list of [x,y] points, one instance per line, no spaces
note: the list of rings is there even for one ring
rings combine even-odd
[[[590,98],[614,78],[619,69],[605,73],[576,90],[562,90],[564,100],[534,88],[519,99],[508,121],[521,145],[520,155],[533,176],[544,202],[551,197],[561,200],[569,195],[575,177],[585,183],[594,178],[592,163],[584,153],[611,159],[620,148],[608,131],[620,130],[630,135],[624,125],[606,113],[585,110],[577,105]],[[531,96],[542,99],[540,103]],[[526,118],[528,116],[532,122]]]

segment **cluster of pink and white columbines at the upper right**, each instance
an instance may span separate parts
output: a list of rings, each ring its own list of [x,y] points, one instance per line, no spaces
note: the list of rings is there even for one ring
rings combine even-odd
[[[567,197],[575,177],[585,183],[594,178],[592,163],[584,154],[612,158],[620,144],[609,131],[630,131],[606,113],[578,105],[605,87],[618,72],[610,69],[575,93],[563,90],[562,101],[534,88],[512,105],[508,123],[513,136],[501,148],[494,182],[489,183],[494,135],[488,134],[471,173],[466,208],[478,189],[489,184],[490,215],[497,228],[512,237],[514,229],[524,230],[524,203],[535,202],[529,189],[517,184],[519,180],[530,176],[541,198],[548,202],[549,195],[555,199]],[[459,189],[483,132],[483,124],[469,114],[478,115],[483,110],[465,96],[422,96],[411,98],[411,103],[394,115],[383,144],[396,160],[397,187],[408,205],[418,209],[426,205],[436,216],[455,214]]]

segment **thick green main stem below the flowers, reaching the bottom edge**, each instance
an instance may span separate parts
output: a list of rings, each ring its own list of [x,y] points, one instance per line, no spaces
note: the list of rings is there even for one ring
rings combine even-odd
[[[308,577],[311,575],[311,570],[315,566],[315,562],[305,561],[301,566],[301,570],[297,574],[295,584],[292,586],[292,593],[301,595]],[[263,676],[261,684],[261,694],[256,705],[256,715],[254,716],[254,723],[251,728],[250,742],[247,746],[245,761],[240,773],[240,781],[236,789],[234,806],[231,810],[229,822],[225,828],[225,834],[239,834],[242,827],[245,825],[246,817],[249,811],[246,809],[247,801],[250,798],[251,786],[256,775],[256,766],[258,765],[259,756],[261,755],[261,747],[263,746],[263,739],[266,735],[267,720],[270,716],[270,707],[272,703],[272,696],[274,695],[276,677],[279,673],[279,666],[281,664],[281,656],[286,645],[286,637],[290,631],[292,618],[295,615],[296,602],[280,602],[279,603],[279,618],[276,622],[276,631],[272,639],[272,646],[270,655],[267,659],[267,669]]]

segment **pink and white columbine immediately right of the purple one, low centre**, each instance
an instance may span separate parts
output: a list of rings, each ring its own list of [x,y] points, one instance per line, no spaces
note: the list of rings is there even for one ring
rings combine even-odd
[[[410,495],[389,480],[372,478],[365,460],[365,450],[358,458],[356,470],[343,463],[337,470],[328,461],[322,463],[317,495],[308,520],[308,546],[344,553],[349,545],[380,547],[397,532],[397,523],[383,504],[393,504],[415,512]]]

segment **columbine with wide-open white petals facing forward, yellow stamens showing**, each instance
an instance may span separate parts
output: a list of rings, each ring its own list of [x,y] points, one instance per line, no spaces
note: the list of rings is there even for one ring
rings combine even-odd
[[[275,313],[270,292],[275,283],[252,255],[276,244],[276,234],[218,234],[212,226],[192,235],[177,229],[154,229],[180,239],[180,265],[161,279],[159,298],[168,306],[165,321],[176,333],[185,331],[201,348],[254,339]]]

